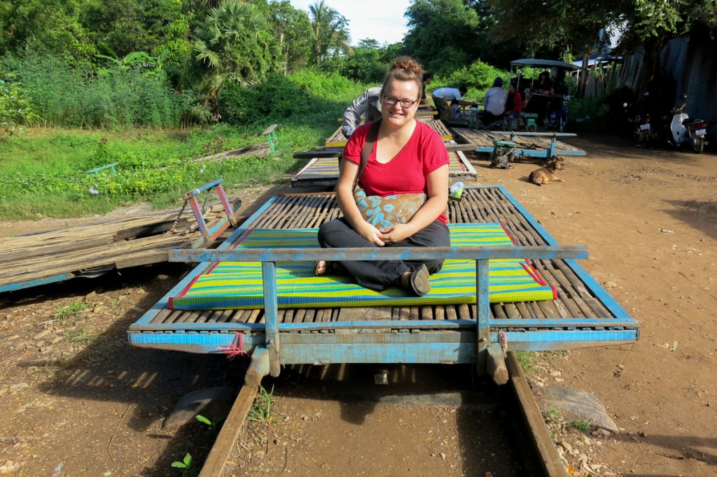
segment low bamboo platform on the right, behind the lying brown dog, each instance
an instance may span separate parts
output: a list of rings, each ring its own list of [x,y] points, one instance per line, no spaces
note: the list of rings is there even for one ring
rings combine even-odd
[[[450,130],[457,141],[475,146],[475,151],[479,153],[492,153],[496,141],[510,141],[515,144],[516,157],[549,159],[555,155],[585,155],[584,150],[557,139],[574,137],[572,133],[520,133],[475,130],[466,127],[451,127]]]

